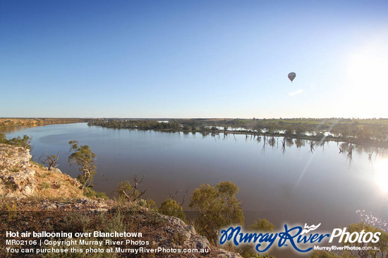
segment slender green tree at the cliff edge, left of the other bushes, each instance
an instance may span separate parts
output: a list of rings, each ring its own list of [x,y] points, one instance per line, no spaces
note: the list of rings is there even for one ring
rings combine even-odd
[[[82,190],[85,186],[89,186],[92,183],[93,176],[96,174],[96,157],[95,153],[92,153],[89,146],[78,146],[78,141],[70,141],[71,155],[68,157],[68,162],[74,162],[78,165],[82,174],[78,175],[78,181],[82,183]]]

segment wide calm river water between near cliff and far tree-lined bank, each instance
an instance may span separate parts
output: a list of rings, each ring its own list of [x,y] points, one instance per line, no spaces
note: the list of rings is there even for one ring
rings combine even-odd
[[[120,181],[145,176],[145,198],[160,205],[175,193],[187,200],[200,183],[234,181],[245,224],[266,218],[281,228],[319,224],[332,229],[360,220],[356,210],[388,220],[387,150],[347,143],[243,134],[160,132],[55,124],[22,129],[8,137],[32,136],[34,159],[56,155],[68,165],[68,141],[87,144],[97,154],[96,191],[112,195]],[[185,209],[189,201],[185,202]]]

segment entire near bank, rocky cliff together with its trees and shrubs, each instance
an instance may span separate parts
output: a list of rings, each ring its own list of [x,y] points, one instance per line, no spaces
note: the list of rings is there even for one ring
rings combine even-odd
[[[226,245],[226,250],[217,247],[217,231],[231,224],[243,225],[244,216],[241,202],[236,198],[238,186],[233,182],[224,181],[215,186],[202,184],[193,191],[190,207],[198,211],[196,219],[186,219],[183,212],[183,201],[174,200],[175,195],[157,208],[152,200],[144,200],[146,193],[140,189],[142,179],[134,174],[132,181],[119,183],[116,198],[109,200],[106,195],[92,191],[92,174],[95,167],[95,154],[89,146],[78,146],[71,141],[69,162],[80,167],[78,180],[62,174],[59,169],[49,170],[43,165],[30,161],[28,147],[30,139],[7,139],[0,135],[0,179],[1,179],[1,241],[5,242],[5,231],[49,231],[49,232],[92,232],[92,231],[130,231],[142,232],[150,244],[133,243],[120,245],[125,248],[174,247],[201,248],[209,252],[190,254],[186,257],[272,257],[270,254],[258,254],[250,245],[233,247]],[[20,158],[22,156],[23,158]],[[77,162],[77,159],[79,162]],[[20,178],[20,173],[30,173]],[[30,189],[26,191],[26,188]],[[187,193],[187,192],[186,192]],[[186,196],[186,193],[184,197]],[[89,198],[83,197],[89,196]],[[102,198],[97,198],[102,197]],[[174,217],[173,217],[174,216]],[[186,221],[185,224],[183,221]],[[253,225],[247,226],[251,231],[274,231],[266,219],[257,219]],[[349,231],[380,231],[381,240],[375,245],[379,252],[344,252],[334,254],[315,251],[310,257],[387,257],[388,233],[368,224],[353,224]],[[200,233],[200,236],[198,233]],[[109,238],[111,240],[122,240]],[[28,240],[28,239],[26,239]],[[33,240],[31,238],[31,240]],[[58,240],[63,240],[59,238]],[[85,238],[97,240],[97,238]],[[359,245],[359,243],[345,243]],[[20,249],[23,246],[14,246]],[[32,246],[34,247],[34,246]],[[66,246],[61,246],[65,247]],[[82,247],[82,246],[79,246]],[[85,247],[85,246],[84,246]],[[90,246],[93,247],[93,246]],[[104,248],[112,247],[107,244]],[[117,246],[115,246],[117,247]],[[231,252],[230,252],[231,251]],[[24,257],[22,253],[8,254],[5,245],[0,247],[1,257]],[[236,254],[239,253],[239,254]],[[241,256],[240,256],[241,255]],[[94,254],[41,254],[40,257],[138,257],[128,253],[94,253]],[[154,257],[144,254],[142,257]],[[179,254],[158,254],[157,257],[181,257]]]

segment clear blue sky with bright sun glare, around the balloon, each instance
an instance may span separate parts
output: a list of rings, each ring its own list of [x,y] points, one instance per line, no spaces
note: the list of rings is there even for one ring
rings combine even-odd
[[[388,1],[0,0],[0,117],[388,117],[387,13]]]

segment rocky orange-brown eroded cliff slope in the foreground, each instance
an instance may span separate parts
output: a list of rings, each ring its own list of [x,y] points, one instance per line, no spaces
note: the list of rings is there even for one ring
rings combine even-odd
[[[62,174],[59,169],[49,171],[47,167],[31,162],[30,158],[28,149],[0,144],[1,207],[8,205],[8,211],[3,209],[6,212],[1,213],[0,221],[11,221],[0,223],[0,238],[5,236],[4,231],[67,231],[61,227],[63,221],[71,228],[80,226],[78,222],[83,221],[83,229],[79,229],[82,231],[87,228],[85,221],[90,223],[95,219],[95,225],[104,228],[104,223],[111,223],[109,219],[119,218],[116,224],[127,228],[135,226],[132,230],[146,236],[150,242],[148,247],[207,250],[202,254],[163,254],[161,257],[241,257],[211,245],[193,226],[176,217],[134,203],[123,205],[114,200],[85,198],[76,179]],[[107,231],[106,228],[99,230]],[[123,246],[128,247],[138,246]],[[0,254],[2,252],[4,249],[0,247]]]

